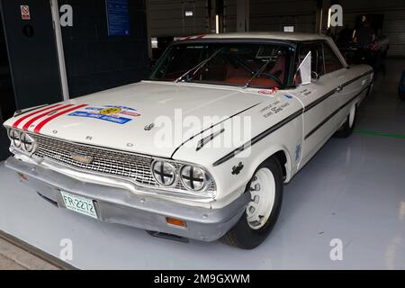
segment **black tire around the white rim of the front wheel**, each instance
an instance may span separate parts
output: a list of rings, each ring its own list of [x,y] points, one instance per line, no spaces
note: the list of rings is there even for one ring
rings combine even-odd
[[[275,177],[275,202],[268,220],[262,228],[252,229],[247,223],[247,212],[245,211],[240,220],[238,220],[238,223],[230,229],[227,234],[220,238],[222,243],[242,249],[253,249],[259,246],[275,227],[275,222],[280,214],[283,202],[283,170],[275,157],[267,159],[258,166],[255,175],[257,171],[263,167],[268,168]],[[250,193],[249,187],[251,182],[252,180],[247,184],[247,191],[245,193]]]

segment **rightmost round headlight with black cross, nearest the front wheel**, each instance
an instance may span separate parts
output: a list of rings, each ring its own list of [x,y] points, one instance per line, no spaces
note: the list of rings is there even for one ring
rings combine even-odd
[[[200,167],[185,165],[180,170],[184,187],[191,191],[202,191],[210,182],[210,176]]]

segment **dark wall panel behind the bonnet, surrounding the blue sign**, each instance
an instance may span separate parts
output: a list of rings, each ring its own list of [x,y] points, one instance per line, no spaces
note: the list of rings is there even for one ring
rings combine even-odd
[[[73,8],[62,39],[70,97],[139,81],[148,71],[144,0],[129,0],[130,35],[108,36],[104,0],[58,0]]]

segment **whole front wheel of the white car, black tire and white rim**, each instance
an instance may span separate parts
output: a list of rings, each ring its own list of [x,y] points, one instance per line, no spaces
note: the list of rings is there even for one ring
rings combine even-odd
[[[246,193],[251,197],[244,215],[220,240],[233,247],[253,249],[275,226],[283,202],[283,171],[275,158],[257,167]]]

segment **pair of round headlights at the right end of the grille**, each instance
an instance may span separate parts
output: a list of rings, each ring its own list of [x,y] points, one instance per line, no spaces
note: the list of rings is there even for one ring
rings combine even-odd
[[[202,193],[210,186],[211,175],[202,167],[183,165],[175,167],[165,160],[152,163],[152,175],[161,186],[174,187],[181,181],[184,188],[193,193]]]

